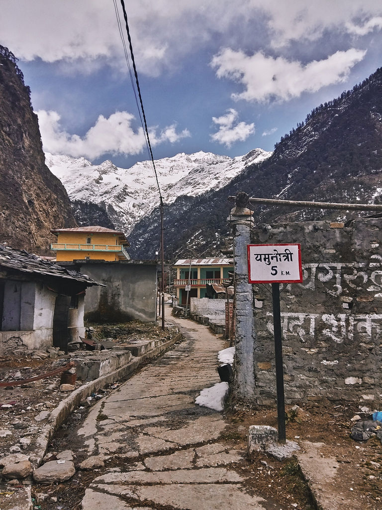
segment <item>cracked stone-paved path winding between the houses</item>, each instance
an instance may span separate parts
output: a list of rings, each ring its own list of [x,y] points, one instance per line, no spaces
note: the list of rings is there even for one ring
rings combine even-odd
[[[220,438],[222,414],[194,403],[220,382],[217,351],[227,345],[205,326],[169,320],[186,325],[187,340],[99,401],[77,431],[89,467],[110,457],[119,466],[94,473],[84,510],[267,508],[233,469],[244,452]]]

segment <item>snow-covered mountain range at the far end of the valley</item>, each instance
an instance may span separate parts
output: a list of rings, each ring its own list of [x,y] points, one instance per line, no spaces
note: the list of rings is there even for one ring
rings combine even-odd
[[[217,190],[254,163],[269,158],[271,152],[254,149],[245,156],[230,158],[211,152],[184,154],[155,161],[158,182],[165,203],[178,196],[197,196]],[[152,163],[142,161],[131,168],[118,168],[110,160],[92,165],[85,158],[45,153],[51,172],[65,186],[69,198],[91,202],[107,212],[116,228],[129,234],[134,225],[149,215],[159,203]]]

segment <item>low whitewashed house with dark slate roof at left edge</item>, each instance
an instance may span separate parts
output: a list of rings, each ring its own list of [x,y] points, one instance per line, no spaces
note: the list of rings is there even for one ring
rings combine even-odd
[[[99,284],[24,250],[0,245],[0,353],[66,350],[84,336],[85,291]]]

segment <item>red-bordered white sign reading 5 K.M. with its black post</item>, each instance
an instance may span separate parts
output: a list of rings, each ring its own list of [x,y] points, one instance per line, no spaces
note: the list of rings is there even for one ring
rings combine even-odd
[[[301,283],[301,245],[249,244],[248,275],[250,284],[272,284],[273,325],[275,337],[277,421],[279,443],[286,443],[283,347],[280,313],[280,283]]]

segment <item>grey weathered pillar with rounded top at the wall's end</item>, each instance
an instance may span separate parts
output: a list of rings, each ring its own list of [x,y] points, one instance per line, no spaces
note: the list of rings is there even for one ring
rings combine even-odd
[[[248,197],[248,195],[247,195]],[[236,202],[238,203],[238,202]],[[255,324],[252,285],[248,283],[247,244],[251,243],[252,211],[234,207],[228,218],[233,228],[235,271],[236,397],[253,402],[255,398]]]

